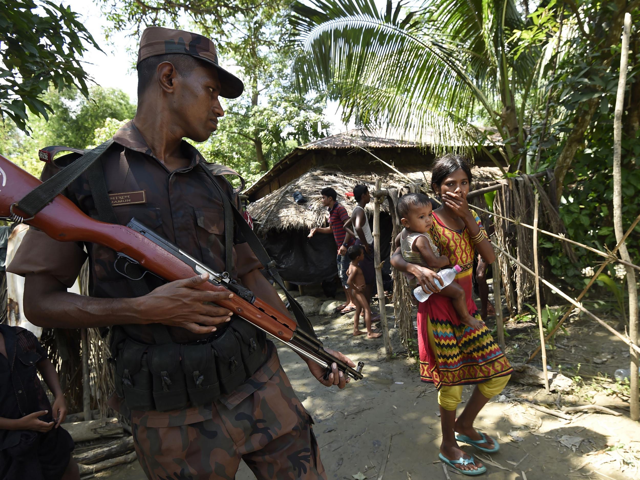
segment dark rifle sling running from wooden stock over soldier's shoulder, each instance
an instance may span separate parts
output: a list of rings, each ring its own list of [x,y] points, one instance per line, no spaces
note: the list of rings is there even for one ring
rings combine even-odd
[[[113,138],[109,138],[106,142],[101,143],[90,152],[79,157],[74,163],[63,168],[49,180],[31,190],[24,198],[19,200],[15,206],[18,207],[21,212],[24,212],[27,218],[33,218],[36,213],[49,205],[61,191],[67,188],[71,182],[76,180],[87,168],[92,166],[92,164],[111,147],[112,143]]]

